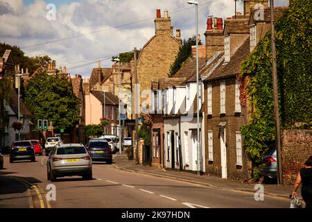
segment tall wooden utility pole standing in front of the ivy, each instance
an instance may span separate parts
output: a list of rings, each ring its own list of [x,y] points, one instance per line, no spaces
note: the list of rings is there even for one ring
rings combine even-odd
[[[279,99],[277,92],[277,67],[275,49],[275,27],[274,27],[274,0],[270,0],[271,12],[271,45],[272,45],[272,81],[274,99],[275,137],[277,151],[277,184],[283,184],[283,169],[281,166],[281,130],[279,128]]]

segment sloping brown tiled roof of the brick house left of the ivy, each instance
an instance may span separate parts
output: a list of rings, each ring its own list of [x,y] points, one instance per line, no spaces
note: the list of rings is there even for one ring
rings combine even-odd
[[[215,80],[218,78],[225,78],[228,76],[235,76],[241,71],[241,62],[248,57],[250,53],[250,38],[246,38],[245,42],[236,50],[231,60],[224,64],[218,65],[215,71],[206,80]]]

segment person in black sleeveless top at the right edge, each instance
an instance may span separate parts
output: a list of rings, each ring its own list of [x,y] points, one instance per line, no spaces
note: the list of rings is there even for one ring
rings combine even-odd
[[[293,188],[293,196],[297,196],[297,188],[302,182],[301,195],[306,203],[306,208],[312,208],[312,155],[304,163],[304,168],[300,169],[295,186]]]

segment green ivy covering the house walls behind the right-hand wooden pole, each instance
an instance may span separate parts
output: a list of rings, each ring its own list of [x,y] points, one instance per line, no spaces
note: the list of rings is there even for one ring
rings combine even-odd
[[[275,24],[279,118],[284,128],[295,122],[311,124],[311,4],[293,0]],[[241,133],[245,151],[256,165],[275,144],[271,55],[269,32],[241,64],[241,78],[248,78],[246,92],[252,102],[252,121]]]

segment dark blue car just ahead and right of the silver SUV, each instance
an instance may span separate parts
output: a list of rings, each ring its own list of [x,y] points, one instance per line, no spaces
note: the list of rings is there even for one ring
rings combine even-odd
[[[112,148],[106,139],[89,140],[87,151],[92,161],[105,161],[107,164],[112,164]]]

